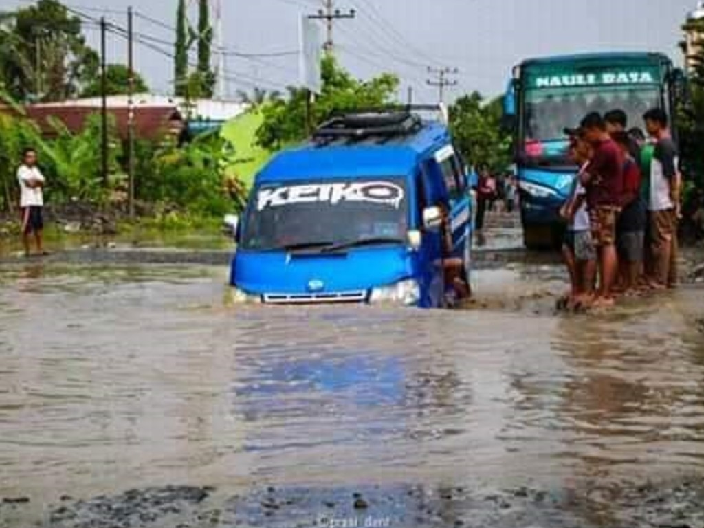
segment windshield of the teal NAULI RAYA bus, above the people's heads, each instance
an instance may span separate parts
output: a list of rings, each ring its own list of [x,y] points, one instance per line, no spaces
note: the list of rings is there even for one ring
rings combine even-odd
[[[545,144],[564,142],[566,127],[576,127],[590,112],[623,110],[629,126],[643,127],[642,116],[661,106],[660,89],[655,86],[570,87],[527,90],[524,106],[526,153],[549,156]],[[542,146],[542,147],[541,147]],[[543,148],[544,147],[544,148]]]

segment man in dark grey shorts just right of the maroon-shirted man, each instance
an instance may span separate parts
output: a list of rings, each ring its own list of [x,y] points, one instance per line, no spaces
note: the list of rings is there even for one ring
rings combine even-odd
[[[641,169],[631,157],[629,134],[614,132],[611,137],[624,156],[622,212],[616,224],[616,241],[622,286],[624,291],[630,291],[636,287],[643,271],[646,203],[641,200]]]

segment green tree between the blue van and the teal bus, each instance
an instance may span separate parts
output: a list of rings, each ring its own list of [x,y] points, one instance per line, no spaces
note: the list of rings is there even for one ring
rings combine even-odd
[[[479,92],[460,97],[450,107],[450,128],[467,163],[492,170],[510,164],[510,136],[501,130],[501,99],[488,103]]]

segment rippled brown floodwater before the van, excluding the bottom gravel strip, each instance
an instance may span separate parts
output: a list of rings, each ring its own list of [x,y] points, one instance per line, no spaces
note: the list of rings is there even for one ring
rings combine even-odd
[[[700,292],[571,318],[223,308],[225,282],[198,268],[6,275],[0,495],[532,484],[569,505],[597,479],[610,515],[612,483],[704,467]],[[467,508],[446,502],[447,519]]]

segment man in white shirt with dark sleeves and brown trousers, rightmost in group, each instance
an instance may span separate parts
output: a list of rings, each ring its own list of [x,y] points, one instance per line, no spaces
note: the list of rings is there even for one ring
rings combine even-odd
[[[655,146],[648,160],[648,215],[653,256],[655,287],[677,284],[677,222],[679,215],[680,175],[677,170],[677,146],[668,128],[667,113],[654,108],[643,115],[648,135]]]

